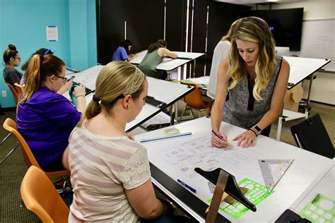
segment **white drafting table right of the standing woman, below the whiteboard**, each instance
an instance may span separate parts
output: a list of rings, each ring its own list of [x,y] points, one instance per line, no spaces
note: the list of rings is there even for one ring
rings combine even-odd
[[[320,68],[330,63],[330,60],[327,59],[312,59],[304,57],[295,57],[295,56],[283,56],[288,64],[290,64],[290,77],[288,78],[288,90],[294,88],[295,85],[302,82],[305,78],[310,76],[310,86],[307,93],[307,102],[305,113],[300,113],[296,111],[290,111],[283,109],[282,114],[278,119],[278,128],[276,139],[281,140],[281,127],[283,121],[290,121],[293,119],[305,118],[308,116],[308,109],[310,107],[310,90],[312,89],[313,74],[318,71]]]

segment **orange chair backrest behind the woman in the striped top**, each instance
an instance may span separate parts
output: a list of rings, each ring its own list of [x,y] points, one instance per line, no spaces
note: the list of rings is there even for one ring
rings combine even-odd
[[[69,208],[41,169],[29,167],[23,177],[20,193],[25,206],[42,222],[68,222]]]

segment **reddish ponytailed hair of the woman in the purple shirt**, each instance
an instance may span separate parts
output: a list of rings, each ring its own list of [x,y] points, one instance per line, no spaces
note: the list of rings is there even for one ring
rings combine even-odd
[[[65,66],[64,61],[52,54],[34,55],[30,59],[27,71],[25,72],[27,82],[25,83],[25,90],[20,104],[30,100],[30,97],[40,89],[47,76],[60,75],[63,66]]]

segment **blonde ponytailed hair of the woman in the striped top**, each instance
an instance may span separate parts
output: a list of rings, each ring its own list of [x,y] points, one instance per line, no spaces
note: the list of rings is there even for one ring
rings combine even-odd
[[[136,66],[125,61],[112,61],[100,71],[95,82],[95,95],[81,116],[78,127],[83,125],[83,120],[91,119],[100,114],[102,108],[112,114],[117,100],[126,95],[131,95],[135,100],[143,91],[143,82],[146,76]]]

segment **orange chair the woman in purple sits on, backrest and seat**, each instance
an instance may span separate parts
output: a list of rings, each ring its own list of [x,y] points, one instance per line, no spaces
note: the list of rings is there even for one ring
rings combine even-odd
[[[3,126],[4,126],[4,129],[13,133],[13,135],[15,135],[16,139],[18,140],[18,144],[20,145],[23,159],[25,160],[25,164],[27,165],[27,167],[35,166],[35,167],[42,169],[40,165],[38,164],[37,160],[35,159],[33,152],[31,152],[30,147],[28,146],[27,142],[25,142],[25,139],[18,132],[18,128],[16,127],[16,122],[13,121],[12,119],[7,118],[4,121]],[[69,176],[70,175],[69,170],[61,170],[61,171],[54,171],[54,172],[44,171],[44,172],[49,178],[52,178],[55,176]]]

